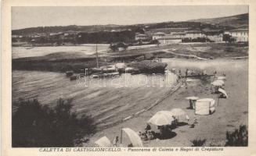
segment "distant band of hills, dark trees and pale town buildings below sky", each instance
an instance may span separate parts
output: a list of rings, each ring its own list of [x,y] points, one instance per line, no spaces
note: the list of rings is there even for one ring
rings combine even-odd
[[[13,30],[12,41],[13,46],[110,44],[114,50],[148,44],[248,42],[248,25],[244,24],[247,20],[248,14],[242,14],[212,19],[211,22],[193,20],[128,26],[34,27]]]

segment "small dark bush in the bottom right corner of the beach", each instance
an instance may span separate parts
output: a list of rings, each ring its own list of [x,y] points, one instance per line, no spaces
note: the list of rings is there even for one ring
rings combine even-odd
[[[247,147],[248,146],[248,130],[247,126],[240,126],[233,132],[226,132],[225,146]]]

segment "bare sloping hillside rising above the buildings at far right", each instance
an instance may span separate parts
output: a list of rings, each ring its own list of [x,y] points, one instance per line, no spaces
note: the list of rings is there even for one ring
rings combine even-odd
[[[240,14],[236,16],[225,16],[212,19],[198,19],[198,20],[189,20],[189,22],[200,22],[200,23],[209,23],[215,24],[222,27],[248,27],[249,23],[249,14]]]

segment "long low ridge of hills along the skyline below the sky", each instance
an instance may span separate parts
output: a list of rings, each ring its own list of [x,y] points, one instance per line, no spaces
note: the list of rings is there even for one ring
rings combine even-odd
[[[122,31],[131,30],[133,33],[141,33],[143,30],[158,29],[158,28],[177,28],[177,27],[192,27],[193,29],[233,29],[237,27],[248,26],[248,13],[236,16],[225,16],[211,19],[188,20],[183,22],[163,22],[163,23],[142,23],[134,25],[92,25],[92,26],[56,26],[56,27],[30,27],[20,30],[12,30],[12,34],[24,35],[41,34],[41,33],[58,33],[58,32],[82,32],[94,33],[99,31]]]

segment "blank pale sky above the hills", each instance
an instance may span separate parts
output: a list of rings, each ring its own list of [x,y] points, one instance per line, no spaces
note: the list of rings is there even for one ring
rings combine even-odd
[[[247,12],[248,5],[13,6],[12,30],[27,27],[185,21]]]

